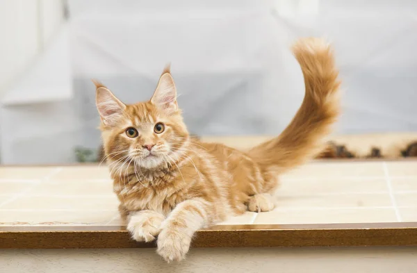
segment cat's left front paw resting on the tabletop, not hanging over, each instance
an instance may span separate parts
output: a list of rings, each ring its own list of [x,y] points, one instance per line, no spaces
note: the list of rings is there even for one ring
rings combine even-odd
[[[151,217],[132,217],[126,229],[133,240],[138,242],[152,242],[161,231],[163,215],[152,215]]]

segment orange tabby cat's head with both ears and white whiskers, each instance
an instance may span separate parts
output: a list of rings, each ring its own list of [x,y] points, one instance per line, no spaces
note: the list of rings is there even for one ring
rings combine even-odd
[[[138,104],[124,104],[104,85],[95,85],[101,135],[110,161],[155,169],[179,159],[189,134],[169,66],[152,98]]]

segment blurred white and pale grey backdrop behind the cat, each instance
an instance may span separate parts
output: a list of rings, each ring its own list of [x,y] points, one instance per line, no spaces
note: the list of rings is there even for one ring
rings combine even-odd
[[[97,149],[97,78],[148,99],[172,63],[192,133],[276,135],[304,92],[291,42],[334,44],[336,133],[417,130],[417,2],[6,0],[0,3],[1,162],[67,163]]]

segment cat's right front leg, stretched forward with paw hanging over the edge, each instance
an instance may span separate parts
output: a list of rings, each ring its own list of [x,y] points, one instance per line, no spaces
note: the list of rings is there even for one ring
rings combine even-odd
[[[157,252],[168,263],[186,257],[195,231],[208,224],[208,203],[191,199],[178,204],[163,222]]]

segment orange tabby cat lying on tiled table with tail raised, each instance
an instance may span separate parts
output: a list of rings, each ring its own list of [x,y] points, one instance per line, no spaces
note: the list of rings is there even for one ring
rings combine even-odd
[[[95,83],[114,191],[134,240],[158,235],[158,254],[182,260],[198,229],[246,210],[274,208],[279,174],[320,152],[339,110],[329,45],[302,39],[293,53],[304,74],[302,106],[279,137],[247,152],[190,138],[169,67],[152,98],[138,104],[123,104]]]

